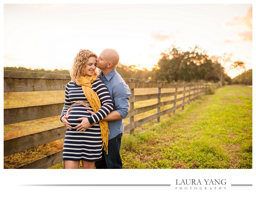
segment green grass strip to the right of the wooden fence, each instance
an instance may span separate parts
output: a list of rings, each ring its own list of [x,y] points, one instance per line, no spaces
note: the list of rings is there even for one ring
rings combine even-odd
[[[252,169],[252,88],[225,86],[125,134],[124,169]]]

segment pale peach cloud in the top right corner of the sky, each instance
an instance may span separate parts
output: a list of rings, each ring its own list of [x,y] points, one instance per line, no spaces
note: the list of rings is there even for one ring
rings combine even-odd
[[[252,30],[252,5],[248,9],[245,15],[235,16],[232,19],[232,22],[226,23],[226,26],[239,26],[239,25],[246,26],[250,30]]]

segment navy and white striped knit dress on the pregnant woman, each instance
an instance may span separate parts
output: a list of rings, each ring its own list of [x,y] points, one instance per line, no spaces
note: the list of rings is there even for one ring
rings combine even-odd
[[[77,131],[76,126],[81,123],[77,121],[78,118],[88,117],[90,124],[93,122],[99,122],[106,117],[113,110],[113,103],[108,93],[107,87],[100,80],[96,79],[92,83],[92,90],[97,93],[100,98],[101,108],[94,115],[87,112],[87,108],[81,104],[77,104],[71,107],[68,122],[71,123],[72,129],[67,128],[64,138],[63,146],[63,160],[68,161],[100,161],[102,157],[102,139],[100,138],[100,125],[99,123],[86,129],[84,132]],[[88,102],[86,99],[82,87],[70,81],[66,85],[65,89],[65,103],[62,109],[62,115],[66,115],[68,108],[75,102]],[[92,108],[90,105],[88,105]],[[93,109],[91,109],[93,111]]]

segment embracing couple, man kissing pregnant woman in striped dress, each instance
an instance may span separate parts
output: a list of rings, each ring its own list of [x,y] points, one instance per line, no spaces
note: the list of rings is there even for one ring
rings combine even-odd
[[[67,127],[65,169],[78,169],[80,161],[83,169],[122,169],[123,119],[131,93],[116,72],[118,63],[114,49],[104,49],[99,57],[81,49],[75,57],[60,116]]]

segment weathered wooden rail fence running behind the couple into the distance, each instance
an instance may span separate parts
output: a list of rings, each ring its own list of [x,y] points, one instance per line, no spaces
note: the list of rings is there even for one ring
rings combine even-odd
[[[164,82],[138,82],[133,79],[125,79],[131,90],[131,97],[129,99],[130,109],[127,117],[130,118],[129,124],[125,125],[124,132],[132,133],[136,127],[140,127],[151,120],[157,119],[160,121],[160,116],[172,112],[178,108],[184,109],[184,106],[191,101],[195,101],[198,97],[208,94],[209,85],[205,83],[179,83],[170,84]],[[37,79],[37,78],[4,78],[4,93],[13,92],[28,92],[28,91],[51,91],[51,90],[65,90],[66,84],[70,79]],[[157,88],[156,94],[134,95],[136,88]],[[174,92],[161,93],[162,88],[174,88]],[[179,90],[179,91],[178,91]],[[182,94],[181,98],[177,95]],[[161,98],[173,97],[172,100],[161,102]],[[144,101],[148,99],[157,99],[157,103],[150,106],[140,107],[134,109],[134,102]],[[177,102],[182,102],[176,105]],[[4,109],[4,125],[15,124],[18,122],[36,120],[45,117],[58,116],[62,112],[63,103],[55,103],[49,105],[29,106]],[[169,109],[160,111],[162,106],[173,106]],[[134,121],[134,116],[149,110],[157,109],[156,113]],[[21,137],[16,137],[9,140],[4,140],[4,156],[12,155],[18,152],[28,150],[43,144],[50,143],[64,138],[66,127],[54,128],[47,131],[33,133]],[[38,159],[31,163],[17,167],[16,169],[46,169],[57,163],[62,162],[62,150],[55,152],[44,158]]]

